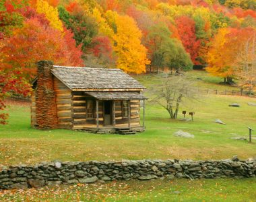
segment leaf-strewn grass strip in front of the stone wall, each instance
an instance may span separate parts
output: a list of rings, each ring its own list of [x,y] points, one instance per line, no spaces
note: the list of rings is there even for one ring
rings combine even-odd
[[[150,180],[2,191],[0,201],[255,201],[255,179]]]

